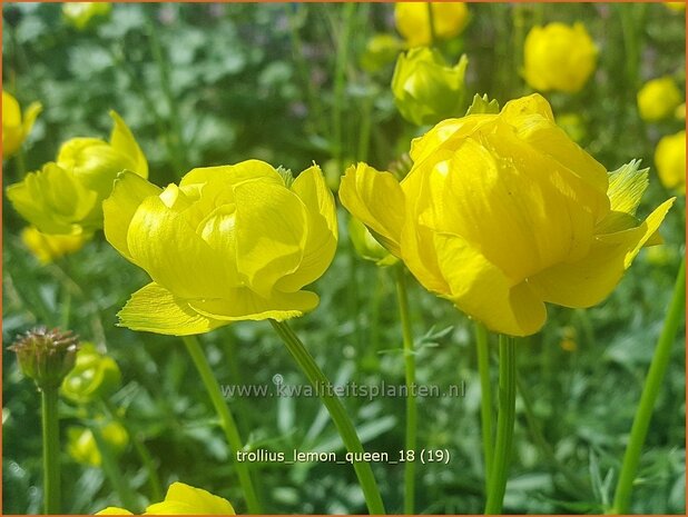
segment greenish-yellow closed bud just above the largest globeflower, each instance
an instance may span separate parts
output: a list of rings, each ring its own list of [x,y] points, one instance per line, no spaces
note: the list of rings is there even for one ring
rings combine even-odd
[[[442,54],[426,47],[399,56],[392,92],[401,115],[416,126],[435,123],[459,115],[464,101],[464,76],[469,60],[462,56],[449,67]]]

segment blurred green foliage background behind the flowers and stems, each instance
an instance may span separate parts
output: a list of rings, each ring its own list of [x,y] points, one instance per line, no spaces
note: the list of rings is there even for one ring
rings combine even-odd
[[[466,29],[443,49],[454,59],[469,56],[469,97],[488,93],[503,105],[531,92],[520,76],[528,30],[581,21],[600,51],[596,74],[580,93],[546,95],[557,116],[578,117],[580,143],[609,170],[633,158],[653,167],[657,140],[684,127],[682,120],[648,125],[636,106],[638,89],[655,77],[669,74],[685,91],[684,12],[661,3],[469,9]],[[336,188],[348,165],[367,160],[384,169],[422,132],[394,107],[389,84],[395,53],[375,70],[362,66],[373,34],[395,33],[393,4],[115,4],[78,30],[59,3],[6,2],[2,18],[3,88],[22,108],[35,100],[43,105],[24,145],[26,167],[17,159],[3,162],[4,187],[55,159],[68,138],[106,138],[110,109],[131,127],[157,185],[193,167],[258,158],[294,171],[315,160]],[[651,170],[639,215],[669,196]],[[684,213],[681,198],[662,226],[666,243],[642,251],[608,300],[589,310],[549,307],[544,330],[522,342],[519,370],[537,422],[529,421],[520,398],[505,511],[600,513],[611,499],[685,252]],[[337,382],[403,384],[393,274],[355,256],[347,215],[340,216],[340,250],[315,287],[321,305],[294,327]],[[39,397],[7,351],[18,332],[36,325],[71,328],[117,360],[124,381],[111,401],[150,449],[164,487],[180,479],[245,510],[229,451],[181,342],[115,327],[117,310],[146,284],[145,274],[101,233],[43,266],[21,242],[23,226],[3,197],[3,513],[40,511]],[[449,449],[452,460],[417,466],[416,508],[481,513],[472,325],[414,282],[410,295],[419,382],[466,387],[461,398],[419,402],[419,446]],[[685,513],[684,334],[642,456],[637,513]],[[305,382],[266,322],[225,327],[203,342],[222,384],[272,385],[275,374],[288,384]],[[342,451],[315,398],[235,397],[229,404],[250,448]],[[367,450],[403,448],[403,398],[345,404]],[[61,414],[63,428],[85,419],[68,404]],[[80,465],[66,447],[62,460],[66,513],[120,504],[100,468]],[[131,446],[119,465],[144,506],[147,477]],[[402,508],[402,469],[374,466],[391,513]],[[265,464],[255,470],[267,513],[365,511],[350,466]]]

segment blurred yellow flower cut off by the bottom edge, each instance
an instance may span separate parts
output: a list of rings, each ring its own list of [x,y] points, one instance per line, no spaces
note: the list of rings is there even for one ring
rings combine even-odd
[[[109,507],[96,515],[132,515],[124,508]],[[184,483],[173,483],[163,503],[146,508],[142,515],[235,515],[227,499]]]

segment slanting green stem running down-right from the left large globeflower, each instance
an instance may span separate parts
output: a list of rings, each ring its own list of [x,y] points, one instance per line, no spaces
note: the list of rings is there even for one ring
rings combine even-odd
[[[311,354],[308,354],[303,342],[301,342],[286,321],[275,321],[271,319],[269,322],[286,345],[289,354],[292,354],[292,357],[294,357],[302,371],[306,375],[313,387],[316,388],[321,400],[327,408],[330,416],[340,431],[346,450],[354,454],[363,453],[363,446],[361,445],[361,440],[358,439],[358,435],[356,434],[351,418],[346,414],[346,409],[344,409],[341,400],[333,394],[331,389],[332,384],[320,369]],[[367,461],[356,461],[354,463],[354,469],[356,470],[358,483],[363,489],[368,513],[383,515],[385,513],[384,505],[370,464]]]

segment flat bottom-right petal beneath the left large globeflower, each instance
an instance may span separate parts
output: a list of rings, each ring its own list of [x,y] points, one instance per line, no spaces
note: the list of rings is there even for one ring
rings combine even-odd
[[[297,318],[317,307],[320,298],[311,291],[273,291],[263,298],[250,289],[232,289],[225,299],[189,300],[189,307],[210,319],[223,321],[263,320],[283,321]]]

